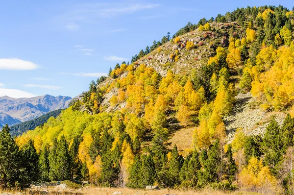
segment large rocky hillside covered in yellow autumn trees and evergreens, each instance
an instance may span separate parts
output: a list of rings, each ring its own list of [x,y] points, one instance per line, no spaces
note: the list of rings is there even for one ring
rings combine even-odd
[[[48,181],[291,194],[293,18],[262,6],[188,23],[16,143],[47,158]]]

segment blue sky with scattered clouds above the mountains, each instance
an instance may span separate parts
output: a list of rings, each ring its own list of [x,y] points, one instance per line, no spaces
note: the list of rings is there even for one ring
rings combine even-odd
[[[278,3],[277,3],[278,2]],[[0,1],[0,97],[75,97],[189,21],[290,0]]]

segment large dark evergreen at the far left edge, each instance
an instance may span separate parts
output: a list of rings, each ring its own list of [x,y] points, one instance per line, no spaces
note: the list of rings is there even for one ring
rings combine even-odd
[[[13,187],[19,177],[19,148],[9,133],[6,124],[0,132],[0,185]]]

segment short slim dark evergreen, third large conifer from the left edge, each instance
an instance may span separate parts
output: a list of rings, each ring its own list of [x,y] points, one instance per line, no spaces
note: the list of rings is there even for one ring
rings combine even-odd
[[[49,181],[49,151],[46,146],[40,151],[39,171],[41,181]]]

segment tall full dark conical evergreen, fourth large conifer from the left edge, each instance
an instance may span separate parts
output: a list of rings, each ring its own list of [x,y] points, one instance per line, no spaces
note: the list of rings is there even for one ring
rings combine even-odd
[[[70,155],[64,136],[60,137],[56,148],[56,178],[59,181],[69,180],[71,176]]]

